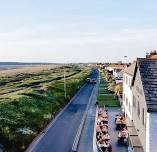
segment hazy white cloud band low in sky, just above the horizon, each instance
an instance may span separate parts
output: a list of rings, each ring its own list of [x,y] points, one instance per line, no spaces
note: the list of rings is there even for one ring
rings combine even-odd
[[[155,28],[86,31],[76,26],[43,25],[0,33],[0,60],[118,61],[127,55],[131,61],[157,48]]]

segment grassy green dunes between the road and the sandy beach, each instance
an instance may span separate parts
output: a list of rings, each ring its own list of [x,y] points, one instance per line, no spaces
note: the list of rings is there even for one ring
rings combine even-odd
[[[7,151],[24,151],[63,109],[90,74],[90,68],[67,66],[1,77],[0,141],[7,147]]]

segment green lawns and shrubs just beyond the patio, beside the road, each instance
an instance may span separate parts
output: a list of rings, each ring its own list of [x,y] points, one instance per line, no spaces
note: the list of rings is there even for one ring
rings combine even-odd
[[[110,79],[108,79],[110,77]],[[119,107],[120,103],[117,95],[114,93],[116,90],[120,93],[119,86],[116,87],[115,81],[108,76],[107,73],[101,72],[98,102],[100,107]]]

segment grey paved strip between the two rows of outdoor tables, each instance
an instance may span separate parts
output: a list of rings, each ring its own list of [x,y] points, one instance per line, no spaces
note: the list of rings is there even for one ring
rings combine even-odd
[[[115,116],[120,113],[120,109],[117,108],[109,108],[109,133],[111,135],[111,145],[112,152],[127,152],[127,147],[120,146],[117,144],[118,131],[116,131],[115,127]]]

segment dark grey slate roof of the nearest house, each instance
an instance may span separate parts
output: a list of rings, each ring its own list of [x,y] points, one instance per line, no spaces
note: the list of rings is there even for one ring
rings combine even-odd
[[[139,68],[148,112],[157,112],[157,60],[138,58],[133,84]]]

